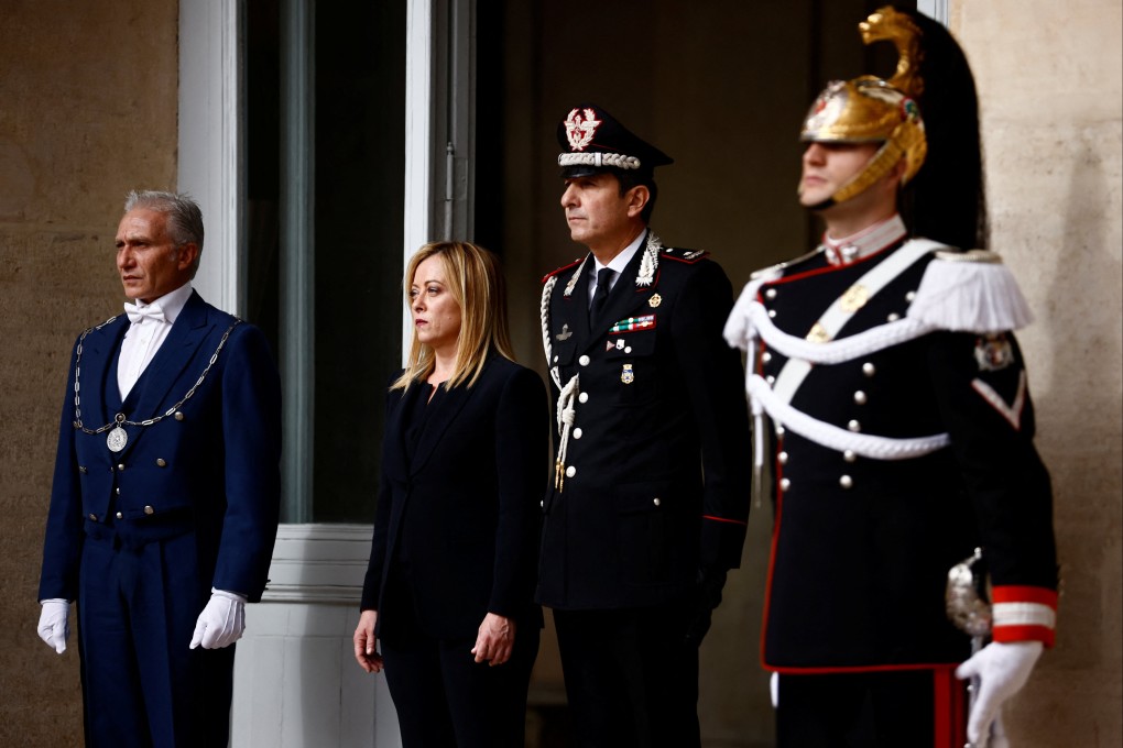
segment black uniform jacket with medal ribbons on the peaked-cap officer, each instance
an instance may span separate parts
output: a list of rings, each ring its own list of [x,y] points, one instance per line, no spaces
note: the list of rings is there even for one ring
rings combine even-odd
[[[657,267],[637,285],[645,253]],[[592,267],[590,256],[582,273]],[[672,602],[701,567],[737,567],[745,542],[743,369],[721,336],[729,279],[702,252],[660,249],[649,233],[590,323],[588,276],[570,283],[576,273],[547,276],[549,363],[563,387],[578,381],[544,502],[537,598],[562,609]]]

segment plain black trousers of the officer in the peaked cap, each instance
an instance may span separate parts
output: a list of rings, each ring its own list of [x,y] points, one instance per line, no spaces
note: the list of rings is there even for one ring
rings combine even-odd
[[[692,608],[555,610],[576,745],[697,748],[699,650]]]

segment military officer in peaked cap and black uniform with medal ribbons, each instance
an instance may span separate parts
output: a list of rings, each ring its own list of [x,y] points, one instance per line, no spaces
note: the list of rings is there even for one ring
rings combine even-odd
[[[732,306],[704,252],[648,228],[665,154],[600,107],[558,126],[574,241],[548,275],[556,474],[538,600],[554,610],[578,745],[699,745],[697,646],[737,567],[750,471]]]

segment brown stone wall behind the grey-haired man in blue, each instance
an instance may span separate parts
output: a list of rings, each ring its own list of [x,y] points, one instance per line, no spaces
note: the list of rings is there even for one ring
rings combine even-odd
[[[71,345],[120,311],[126,192],[175,184],[177,4],[4,0],[0,11],[0,745],[79,746],[77,641],[36,636]]]

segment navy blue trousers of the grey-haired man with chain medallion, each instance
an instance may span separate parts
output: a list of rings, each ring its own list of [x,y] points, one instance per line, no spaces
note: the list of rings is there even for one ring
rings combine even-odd
[[[82,545],[77,604],[90,748],[226,748],[234,653],[189,648],[209,598],[195,537],[140,547],[99,528]]]

